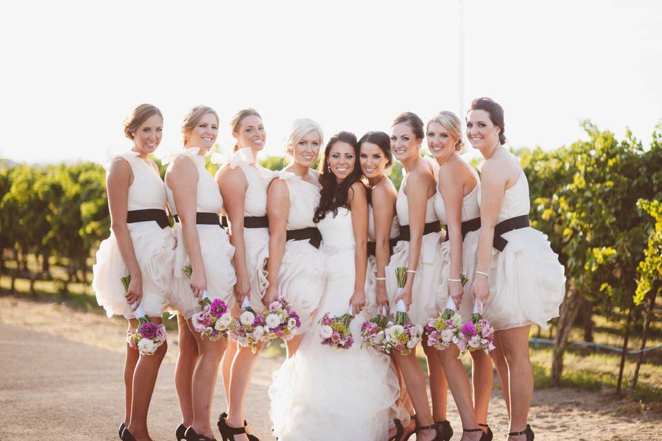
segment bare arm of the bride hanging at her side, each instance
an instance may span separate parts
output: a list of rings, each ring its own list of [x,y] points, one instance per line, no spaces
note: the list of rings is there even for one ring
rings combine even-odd
[[[365,196],[365,187],[360,182],[352,184],[349,196],[352,229],[354,229],[354,242],[356,243],[354,265],[356,265],[357,273],[350,305],[356,315],[365,305],[365,271],[368,268],[368,198]]]

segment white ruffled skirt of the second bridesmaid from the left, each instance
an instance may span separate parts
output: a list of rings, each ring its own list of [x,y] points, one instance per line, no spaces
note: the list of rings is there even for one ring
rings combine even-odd
[[[234,247],[230,244],[228,234],[217,225],[197,225],[198,239],[202,261],[205,264],[207,276],[207,294],[209,298],[220,298],[228,305],[234,306],[232,288],[237,283],[237,276],[232,266]],[[177,249],[174,258],[174,283],[170,295],[170,307],[177,309],[188,320],[193,314],[201,310],[197,299],[190,287],[190,280],[183,272],[190,259],[184,246],[181,224],[175,224],[177,234]]]

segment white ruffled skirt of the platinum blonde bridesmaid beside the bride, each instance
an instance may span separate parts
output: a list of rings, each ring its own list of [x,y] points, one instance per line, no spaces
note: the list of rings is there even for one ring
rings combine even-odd
[[[279,296],[285,297],[299,314],[301,328],[297,334],[312,326],[312,318],[324,294],[325,262],[326,255],[308,240],[285,243],[277,287]]]

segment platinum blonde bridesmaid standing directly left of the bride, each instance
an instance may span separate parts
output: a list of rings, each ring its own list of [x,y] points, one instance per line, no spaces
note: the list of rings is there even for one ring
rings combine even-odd
[[[310,329],[324,290],[325,254],[319,251],[321,236],[312,221],[319,205],[320,174],[310,168],[319,158],[322,136],[316,122],[294,121],[285,151],[292,163],[276,173],[268,191],[269,287],[263,303],[268,307],[284,297],[301,318],[298,335],[286,342],[288,358]]]

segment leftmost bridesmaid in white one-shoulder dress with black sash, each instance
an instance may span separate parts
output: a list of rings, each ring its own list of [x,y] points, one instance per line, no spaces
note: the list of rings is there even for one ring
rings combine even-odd
[[[92,289],[108,317],[126,317],[131,330],[138,324],[134,311],[139,305],[152,322],[161,324],[168,305],[174,237],[165,214],[165,185],[157,165],[148,158],[161,143],[161,111],[151,104],[137,106],[124,121],[124,134],[133,147],[106,167],[111,231],[97,251]],[[131,276],[126,293],[120,280],[124,276]],[[151,440],[147,413],[167,348],[164,342],[153,355],[143,356],[126,345],[122,440]]]

